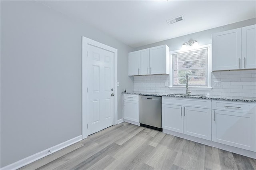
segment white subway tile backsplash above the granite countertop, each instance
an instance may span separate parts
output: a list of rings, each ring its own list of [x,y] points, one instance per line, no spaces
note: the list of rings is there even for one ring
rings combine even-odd
[[[256,69],[212,72],[212,86],[214,81],[220,81],[220,87],[212,87],[211,91],[194,90],[192,94],[225,95],[256,97]],[[169,75],[134,76],[134,91],[157,93],[186,93],[185,89],[169,89]]]

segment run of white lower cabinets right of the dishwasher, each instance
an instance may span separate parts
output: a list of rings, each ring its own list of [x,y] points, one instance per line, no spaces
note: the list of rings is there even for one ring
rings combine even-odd
[[[256,158],[256,103],[162,97],[162,128],[174,136]]]

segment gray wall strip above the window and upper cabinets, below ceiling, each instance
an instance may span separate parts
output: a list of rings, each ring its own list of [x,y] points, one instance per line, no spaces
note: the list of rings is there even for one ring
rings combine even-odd
[[[240,28],[240,27],[244,27],[244,26],[250,26],[253,24],[256,24],[256,18],[252,18],[250,20],[245,20],[245,21],[241,21],[241,22],[236,22],[236,23],[229,24],[226,26],[212,28],[210,30],[196,32],[193,34],[188,34],[188,35],[177,37],[177,38],[172,38],[169,40],[164,40],[161,42],[144,45],[141,47],[136,47],[135,50],[140,50],[140,49],[145,49],[145,48],[150,48],[150,47],[166,44],[170,47],[170,51],[174,51],[174,50],[180,49],[184,42],[189,42],[190,40],[197,40],[199,45],[207,45],[207,44],[212,43],[212,34],[213,33],[222,32],[222,31],[226,31],[226,30],[232,30],[232,29]]]

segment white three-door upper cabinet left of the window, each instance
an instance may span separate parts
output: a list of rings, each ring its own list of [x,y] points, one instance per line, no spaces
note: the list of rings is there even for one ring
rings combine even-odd
[[[128,53],[128,75],[169,74],[169,60],[167,45]]]

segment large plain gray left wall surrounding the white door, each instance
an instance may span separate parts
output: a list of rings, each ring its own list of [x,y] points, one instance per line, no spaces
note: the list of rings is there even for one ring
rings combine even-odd
[[[118,49],[118,119],[132,47],[35,1],[1,1],[1,167],[81,135],[82,36]]]

